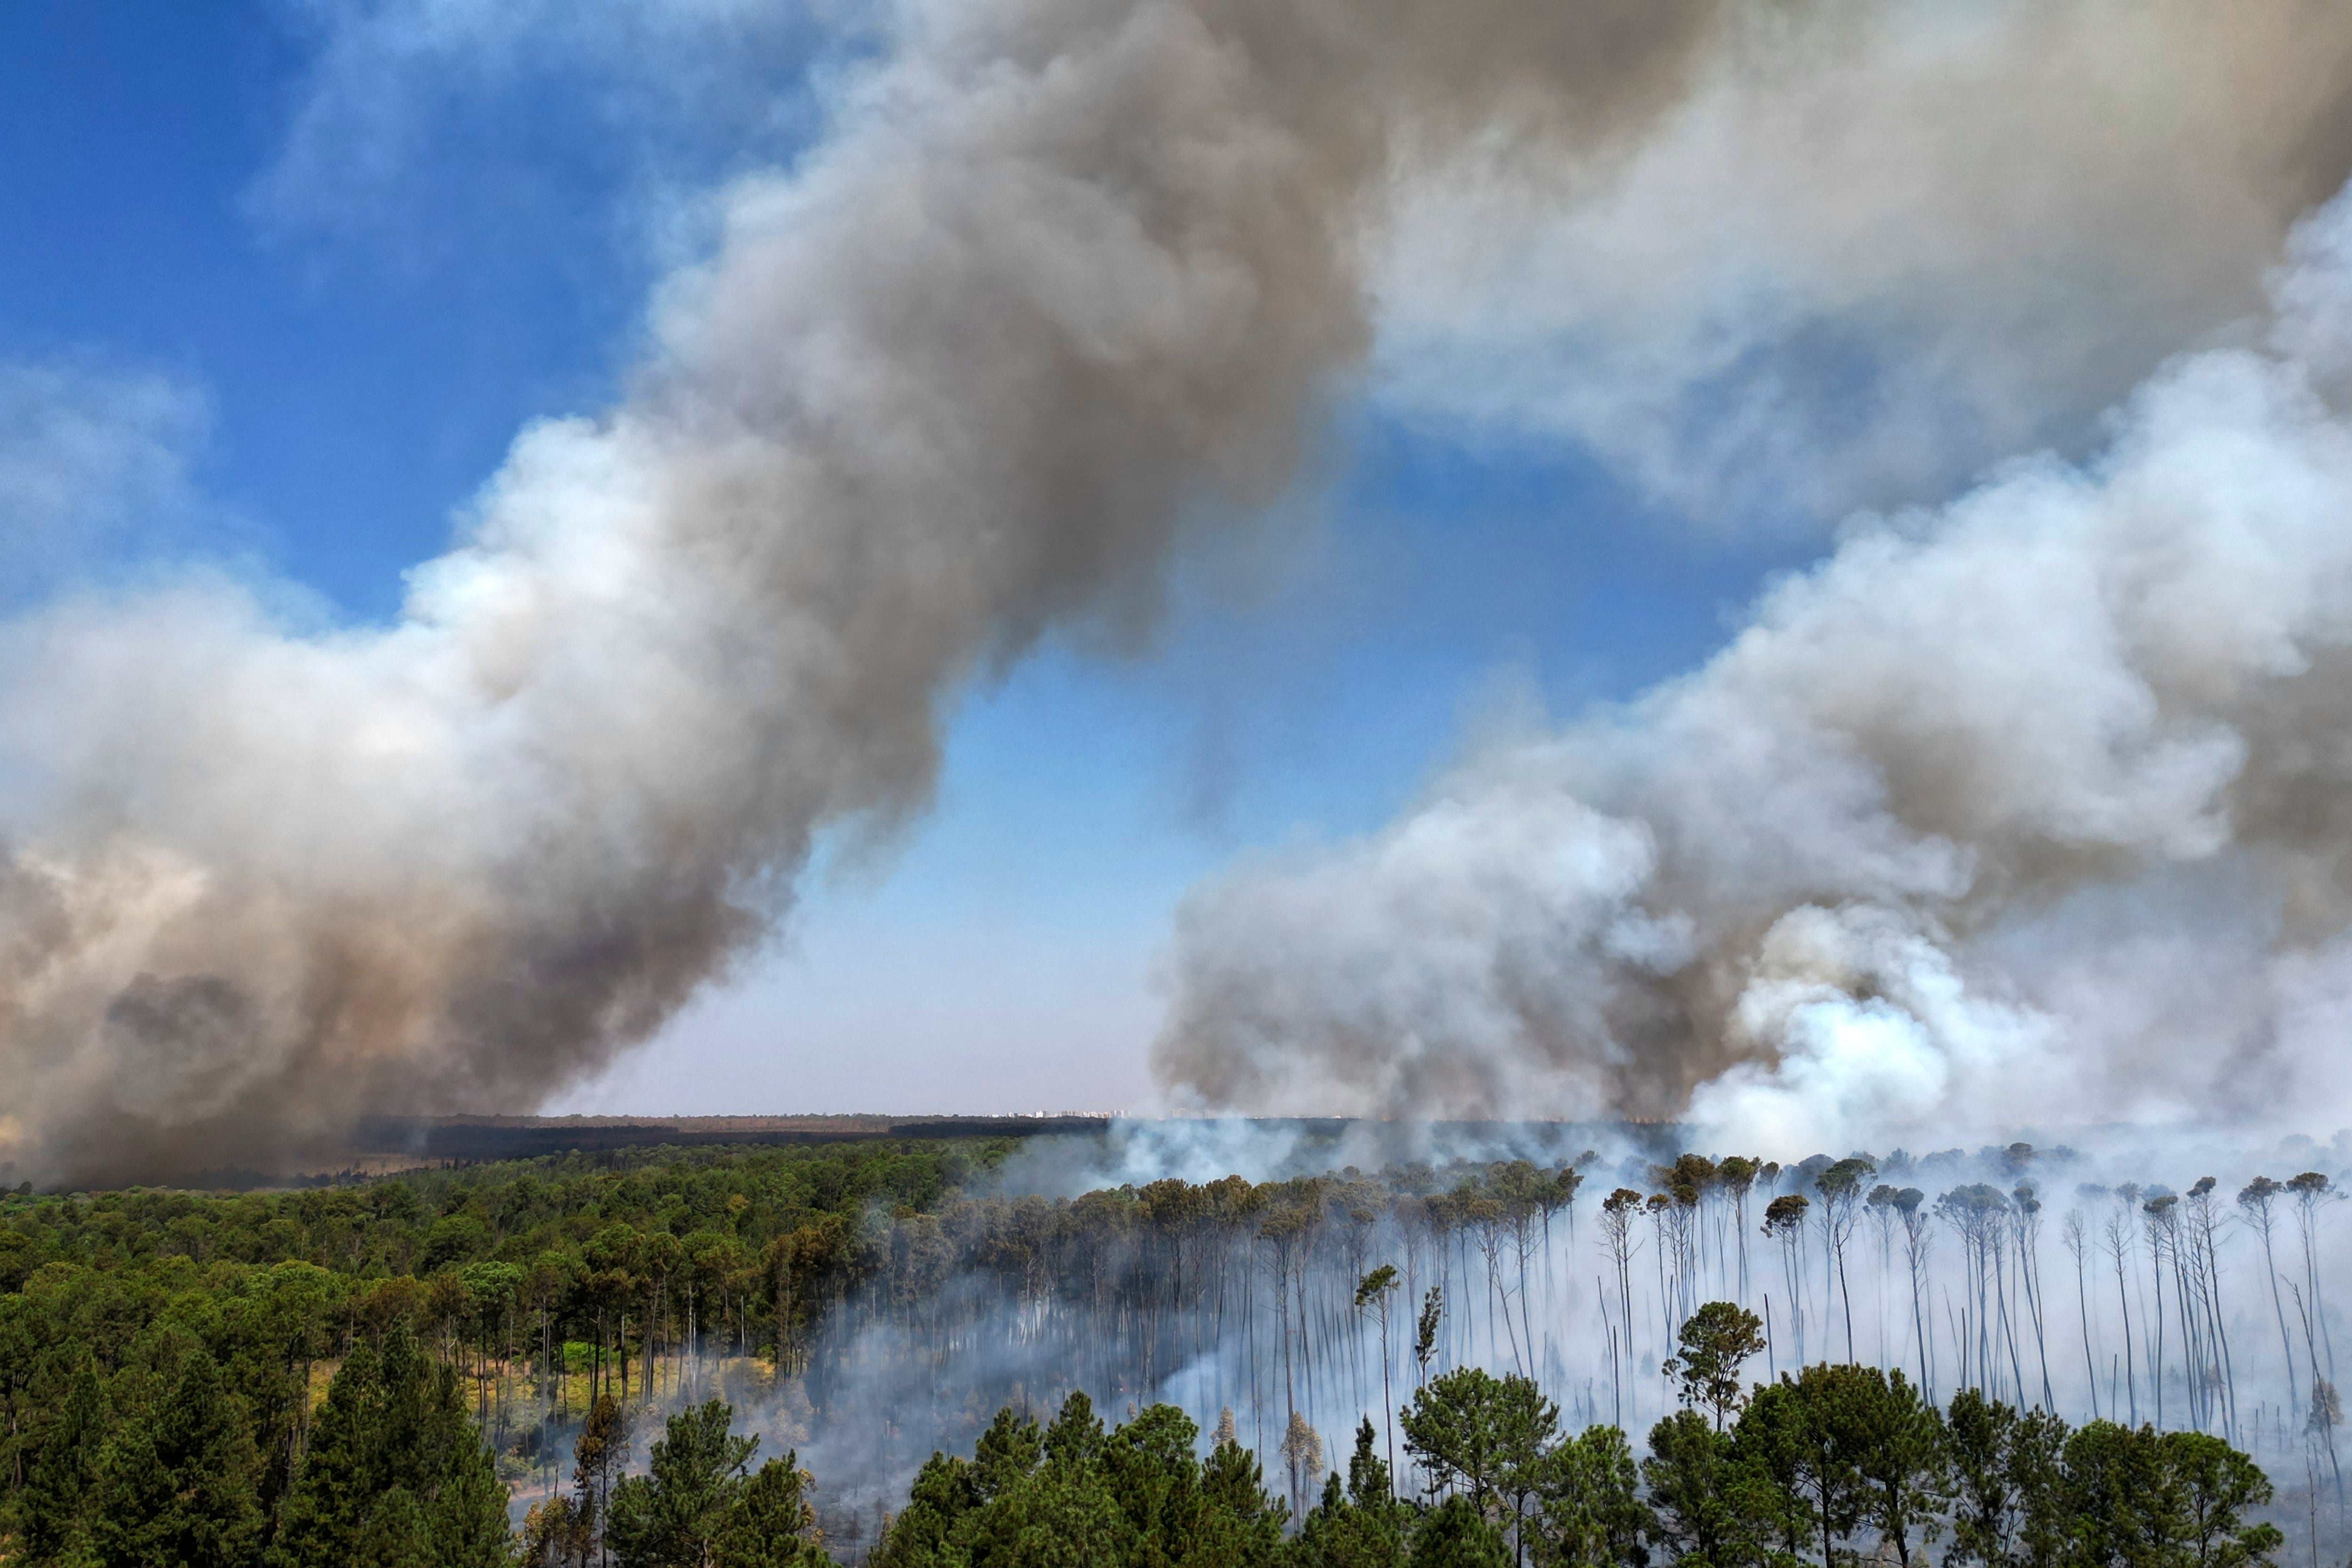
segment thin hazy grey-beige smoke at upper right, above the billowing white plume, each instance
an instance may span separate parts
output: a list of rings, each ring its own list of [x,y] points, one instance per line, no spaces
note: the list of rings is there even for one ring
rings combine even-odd
[[[2319,5],[1745,7],[1623,160],[1491,141],[1404,193],[1383,386],[1700,529],[1950,494],[2260,308],[2345,176],[2347,45]]]

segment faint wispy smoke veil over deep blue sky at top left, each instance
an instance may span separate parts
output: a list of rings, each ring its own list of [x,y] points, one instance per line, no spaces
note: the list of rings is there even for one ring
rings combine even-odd
[[[308,45],[308,63],[245,207],[273,240],[365,237],[376,261],[435,249],[449,261],[468,221],[586,219],[588,233],[609,228],[661,249],[661,219],[675,216],[663,186],[760,167],[807,139],[816,106],[800,78],[828,35],[854,47],[844,24],[866,12],[826,0],[273,0],[266,9]],[[576,188],[536,179],[529,148],[609,169],[626,188],[619,212],[581,212]],[[433,165],[494,172],[485,193],[494,212],[452,214],[452,195],[463,205],[466,190],[421,179]],[[421,212],[430,221],[416,223]]]

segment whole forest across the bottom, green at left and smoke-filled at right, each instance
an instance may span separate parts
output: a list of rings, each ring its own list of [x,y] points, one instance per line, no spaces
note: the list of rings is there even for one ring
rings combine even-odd
[[[0,1197],[0,1561],[2345,1556],[2317,1171],[1014,1147]]]

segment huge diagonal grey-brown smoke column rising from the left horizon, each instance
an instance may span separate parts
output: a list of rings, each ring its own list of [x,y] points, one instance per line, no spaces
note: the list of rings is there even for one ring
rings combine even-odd
[[[1708,16],[908,7],[397,625],[195,581],[7,630],[0,1157],[249,1159],[642,1039],[924,802],[960,684],[1282,491],[1397,122],[1597,141]]]

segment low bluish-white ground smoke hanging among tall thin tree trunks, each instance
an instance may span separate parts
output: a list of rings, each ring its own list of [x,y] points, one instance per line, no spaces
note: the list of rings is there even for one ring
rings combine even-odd
[[[854,1281],[795,1281],[823,1309],[781,1375],[722,1354],[677,1382],[724,1387],[821,1467],[840,1542],[997,1408],[1073,1389],[1232,1422],[1298,1509],[1357,1422],[1388,1434],[1458,1366],[1531,1378],[1566,1429],[1642,1434],[1677,1408],[1663,1363],[1710,1300],[1769,1324],[1748,1382],[1851,1359],[1936,1399],[2206,1432],[2288,1497],[2340,1462],[2336,1314],[2310,1305],[2343,1279],[2340,1190],[2310,1166],[2343,1168],[2347,1138],[1780,1164],[1679,1133],[1214,1119],[1035,1140],[931,1213],[875,1211]],[[1322,1465],[1284,1441],[1301,1422]],[[1402,1462],[1409,1495],[1437,1488]],[[2340,1540],[2338,1507],[2317,1528]]]

